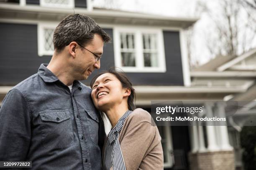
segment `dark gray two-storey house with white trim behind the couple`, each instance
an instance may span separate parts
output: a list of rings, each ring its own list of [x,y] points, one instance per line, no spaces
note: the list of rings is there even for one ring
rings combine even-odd
[[[256,77],[253,71],[242,75],[231,71],[237,64],[231,62],[234,57],[222,58],[216,64],[210,61],[190,72],[184,30],[197,18],[105,10],[93,7],[91,0],[5,0],[0,1],[0,103],[11,87],[36,73],[41,63],[49,62],[54,29],[73,13],[90,16],[112,37],[112,43],[104,46],[101,69],[83,83],[89,85],[101,70],[120,67],[133,82],[137,107],[148,112],[153,100],[222,101],[226,96],[239,97]],[[209,109],[215,114],[213,107]],[[235,166],[227,126],[158,128],[165,170],[215,170],[220,169],[218,166],[230,170]]]

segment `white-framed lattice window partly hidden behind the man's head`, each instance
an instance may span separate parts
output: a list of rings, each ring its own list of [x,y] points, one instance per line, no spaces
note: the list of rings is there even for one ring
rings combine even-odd
[[[53,55],[54,44],[53,35],[57,24],[39,23],[38,24],[38,55]]]

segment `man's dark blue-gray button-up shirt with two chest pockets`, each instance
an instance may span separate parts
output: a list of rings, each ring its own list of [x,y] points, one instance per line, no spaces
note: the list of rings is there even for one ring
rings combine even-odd
[[[99,113],[91,90],[72,92],[41,65],[12,88],[0,108],[0,161],[32,161],[33,169],[100,170]]]

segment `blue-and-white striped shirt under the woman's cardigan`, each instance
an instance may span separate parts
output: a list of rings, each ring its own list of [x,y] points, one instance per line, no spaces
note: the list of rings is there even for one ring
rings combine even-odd
[[[131,114],[131,110],[127,110],[125,114],[118,120],[115,127],[108,134],[108,141],[106,143],[103,169],[110,170],[125,170],[125,163],[123,160],[123,154],[118,141],[119,133],[123,128],[125,119]]]

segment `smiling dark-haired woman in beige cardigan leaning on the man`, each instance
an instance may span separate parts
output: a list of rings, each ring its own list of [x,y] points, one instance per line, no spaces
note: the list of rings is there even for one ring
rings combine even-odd
[[[112,125],[103,146],[102,168],[162,170],[159,131],[147,111],[135,109],[135,92],[126,75],[112,68],[96,75],[91,87],[95,107],[105,112]]]

